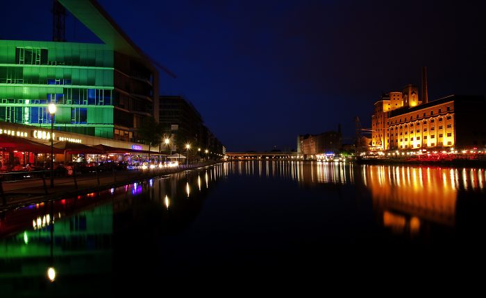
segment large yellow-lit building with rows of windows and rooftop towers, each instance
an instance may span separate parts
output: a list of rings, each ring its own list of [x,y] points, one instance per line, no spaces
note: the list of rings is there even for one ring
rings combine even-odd
[[[422,103],[417,87],[384,94],[371,116],[371,150],[486,148],[478,125],[486,110],[483,96],[447,96]]]

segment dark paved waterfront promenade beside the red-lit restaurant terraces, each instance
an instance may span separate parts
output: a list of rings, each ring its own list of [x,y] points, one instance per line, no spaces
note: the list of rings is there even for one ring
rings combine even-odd
[[[35,175],[35,173],[16,173],[15,175],[22,177],[22,179],[4,181],[5,177],[1,177],[0,210],[20,207],[24,204],[41,202],[44,200],[72,198],[76,195],[84,195],[86,193],[111,189],[113,187],[143,181],[152,177],[160,177],[184,170],[210,166],[212,164],[218,164],[219,162],[221,161],[206,161],[189,164],[188,166],[181,165],[169,168],[138,168],[134,170],[78,173],[72,177],[55,177],[53,188],[50,187],[50,178],[48,177],[49,171],[45,173],[47,177],[44,178],[29,177]]]

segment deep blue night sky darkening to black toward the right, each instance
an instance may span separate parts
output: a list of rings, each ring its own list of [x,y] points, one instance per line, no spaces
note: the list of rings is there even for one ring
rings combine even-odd
[[[464,1],[112,1],[103,8],[152,58],[162,94],[192,101],[228,151],[296,148],[298,134],[354,136],[380,94],[486,94],[485,4]],[[364,3],[366,2],[366,3]],[[459,3],[461,2],[461,3]],[[0,38],[51,40],[51,1],[2,1]],[[17,13],[15,13],[17,12]],[[97,42],[66,19],[68,42]]]

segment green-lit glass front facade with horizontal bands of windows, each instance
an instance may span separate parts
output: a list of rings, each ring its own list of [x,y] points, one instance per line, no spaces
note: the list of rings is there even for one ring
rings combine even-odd
[[[113,139],[113,80],[104,44],[0,40],[0,121]]]

